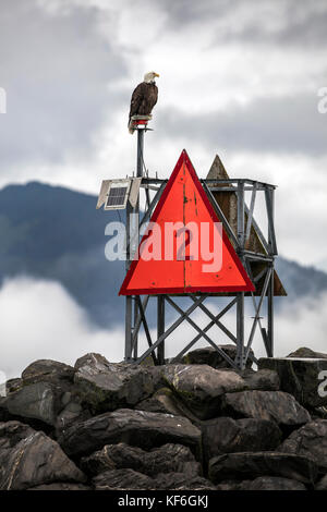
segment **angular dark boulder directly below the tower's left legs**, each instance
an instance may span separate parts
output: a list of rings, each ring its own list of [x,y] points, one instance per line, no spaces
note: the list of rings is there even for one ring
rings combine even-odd
[[[154,392],[146,366],[109,363],[100,354],[86,354],[75,364],[75,387],[94,414],[135,405]]]

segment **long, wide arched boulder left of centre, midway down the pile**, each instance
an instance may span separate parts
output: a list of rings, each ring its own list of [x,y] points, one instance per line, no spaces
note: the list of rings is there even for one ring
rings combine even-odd
[[[167,442],[199,451],[201,431],[182,416],[120,409],[74,424],[59,439],[74,456],[88,455],[105,444],[125,442],[145,450]]]

